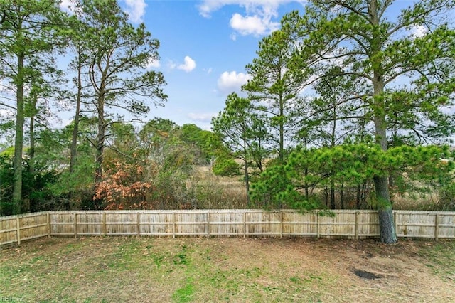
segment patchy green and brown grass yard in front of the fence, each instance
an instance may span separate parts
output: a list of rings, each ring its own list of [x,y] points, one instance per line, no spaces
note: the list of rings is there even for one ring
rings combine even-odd
[[[23,302],[451,302],[455,242],[50,238],[3,248]],[[369,272],[367,280],[355,272]]]

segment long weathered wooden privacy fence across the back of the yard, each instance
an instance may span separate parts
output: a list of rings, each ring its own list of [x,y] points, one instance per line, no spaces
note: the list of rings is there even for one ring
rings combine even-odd
[[[0,218],[0,245],[53,235],[378,238],[376,211],[48,211]],[[455,212],[394,211],[397,237],[455,239]]]

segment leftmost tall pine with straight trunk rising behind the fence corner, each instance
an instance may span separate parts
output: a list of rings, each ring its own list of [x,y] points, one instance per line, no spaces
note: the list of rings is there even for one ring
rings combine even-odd
[[[65,14],[55,0],[0,1],[0,78],[13,87],[16,113],[14,144],[14,213],[21,212],[23,132],[27,85],[65,42]]]

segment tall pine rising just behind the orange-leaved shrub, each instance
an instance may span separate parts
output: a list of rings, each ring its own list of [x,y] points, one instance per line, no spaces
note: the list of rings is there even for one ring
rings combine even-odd
[[[140,116],[149,112],[149,105],[163,105],[167,96],[161,88],[163,75],[146,71],[147,63],[158,58],[159,41],[151,37],[144,23],[132,26],[116,0],[82,0],[80,10],[80,22],[87,31],[77,38],[85,39],[90,58],[87,76],[97,117],[97,137],[92,144],[97,151],[95,183],[99,183],[107,127],[122,121],[108,110]]]

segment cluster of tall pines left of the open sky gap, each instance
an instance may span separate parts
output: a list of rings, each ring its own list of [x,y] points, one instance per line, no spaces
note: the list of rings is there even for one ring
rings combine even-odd
[[[144,23],[132,26],[115,0],[71,3],[72,14],[66,14],[55,0],[0,2],[0,105],[13,112],[15,122],[13,213],[23,211],[23,146],[28,145],[33,183],[38,164],[36,128],[49,129],[48,118],[55,110],[75,111],[70,173],[78,165],[80,124],[83,119],[95,119],[94,132],[85,139],[95,150],[94,179],[100,184],[109,127],[126,122],[125,113],[141,117],[151,105],[162,105],[167,98],[163,75],[146,70],[158,58],[159,41]],[[63,56],[70,59],[72,81],[56,62]],[[72,90],[61,88],[71,82]],[[2,122],[4,128],[11,127],[11,122]]]

